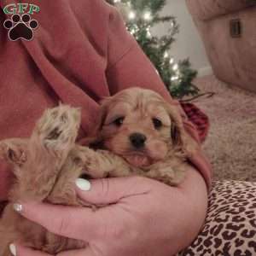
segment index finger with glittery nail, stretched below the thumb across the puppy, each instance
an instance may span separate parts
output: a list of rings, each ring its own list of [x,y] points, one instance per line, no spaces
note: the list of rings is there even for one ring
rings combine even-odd
[[[101,214],[87,207],[64,207],[26,202],[15,204],[14,208],[23,217],[40,224],[55,235],[91,241],[102,233],[104,221]]]

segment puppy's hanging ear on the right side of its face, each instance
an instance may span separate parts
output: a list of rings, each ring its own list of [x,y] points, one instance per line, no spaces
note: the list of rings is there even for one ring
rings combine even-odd
[[[183,119],[177,106],[167,104],[166,108],[169,113],[171,125],[172,145],[180,148],[186,156],[195,153],[199,147],[192,137],[189,136],[183,126]]]

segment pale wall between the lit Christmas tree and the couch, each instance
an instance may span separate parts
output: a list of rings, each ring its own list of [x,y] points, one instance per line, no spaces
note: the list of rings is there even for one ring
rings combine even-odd
[[[212,73],[199,32],[189,14],[185,0],[167,0],[163,15],[176,16],[180,26],[180,32],[177,34],[176,42],[172,44],[170,55],[173,55],[175,60],[189,57],[193,67],[199,71],[199,76]],[[165,26],[159,26],[157,33],[162,34],[166,29],[168,29],[167,23]]]

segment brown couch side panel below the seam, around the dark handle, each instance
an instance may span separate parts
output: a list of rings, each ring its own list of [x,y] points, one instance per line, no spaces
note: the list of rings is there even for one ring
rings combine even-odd
[[[230,20],[236,19],[241,22],[240,38],[230,36]],[[195,22],[217,78],[256,92],[256,6]]]

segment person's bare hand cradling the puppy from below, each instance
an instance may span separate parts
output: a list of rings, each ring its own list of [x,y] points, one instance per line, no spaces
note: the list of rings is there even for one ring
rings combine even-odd
[[[77,193],[84,201],[108,204],[96,212],[90,208],[22,204],[20,214],[24,217],[57,235],[89,242],[84,250],[58,256],[170,256],[195,239],[206,216],[206,185],[192,167],[179,187],[143,177],[90,183],[89,191],[78,188]],[[20,245],[16,245],[16,255],[49,256]]]

